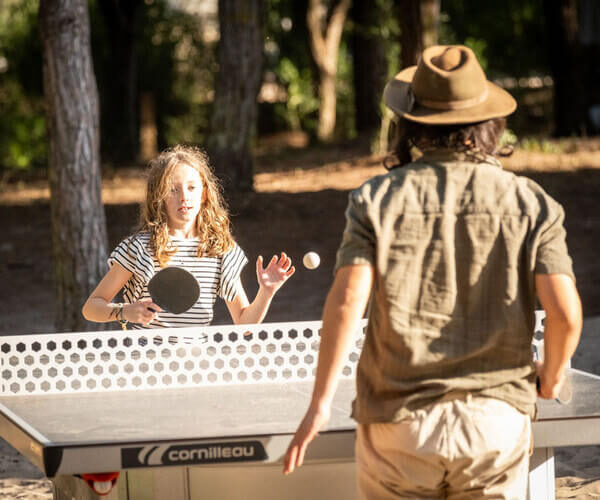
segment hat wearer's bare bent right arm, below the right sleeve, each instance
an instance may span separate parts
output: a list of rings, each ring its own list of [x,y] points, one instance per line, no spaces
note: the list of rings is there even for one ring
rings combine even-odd
[[[560,391],[565,368],[581,335],[581,301],[575,283],[566,274],[537,274],[537,295],[546,311],[544,362],[538,365],[539,394],[553,399]]]

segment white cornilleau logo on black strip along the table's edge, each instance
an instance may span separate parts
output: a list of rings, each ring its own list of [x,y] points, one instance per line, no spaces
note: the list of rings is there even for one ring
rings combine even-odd
[[[253,462],[266,460],[260,441],[196,443],[121,448],[123,468],[161,465],[211,464],[218,462]]]

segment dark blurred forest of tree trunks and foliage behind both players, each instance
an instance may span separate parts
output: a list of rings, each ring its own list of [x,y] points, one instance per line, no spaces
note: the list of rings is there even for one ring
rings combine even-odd
[[[54,324],[90,329],[114,245],[102,177],[200,145],[235,204],[299,152],[382,155],[384,84],[435,43],[470,46],[517,98],[505,143],[590,150],[599,28],[594,0],[4,0],[0,192],[48,180]]]

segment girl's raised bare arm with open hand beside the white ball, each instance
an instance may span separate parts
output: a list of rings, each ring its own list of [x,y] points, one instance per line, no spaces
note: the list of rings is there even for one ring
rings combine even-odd
[[[267,314],[277,290],[295,271],[292,260],[285,253],[282,253],[279,258],[274,255],[266,269],[263,269],[263,259],[262,256],[259,256],[256,259],[256,278],[259,287],[252,303],[248,302],[239,278],[236,284],[235,298],[231,302],[226,302],[233,322],[236,324],[260,323]]]

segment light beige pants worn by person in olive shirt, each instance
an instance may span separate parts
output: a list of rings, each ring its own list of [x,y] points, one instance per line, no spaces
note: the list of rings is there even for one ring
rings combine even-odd
[[[530,418],[497,399],[454,394],[399,423],[361,424],[359,498],[525,498]]]

